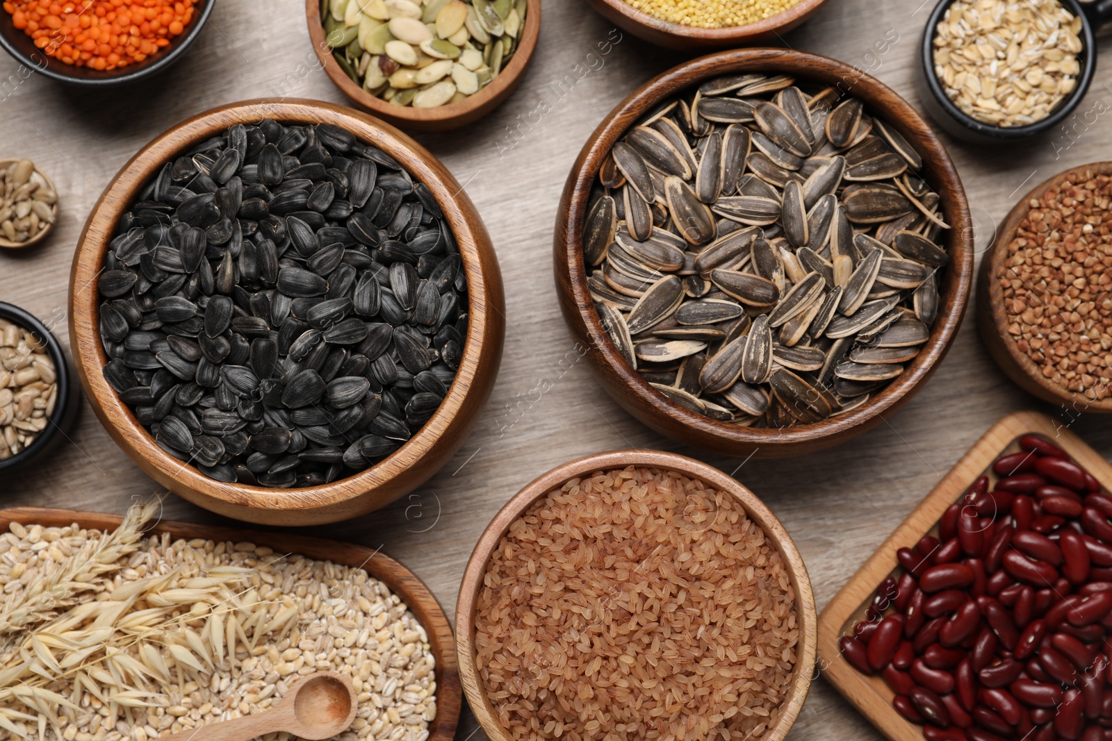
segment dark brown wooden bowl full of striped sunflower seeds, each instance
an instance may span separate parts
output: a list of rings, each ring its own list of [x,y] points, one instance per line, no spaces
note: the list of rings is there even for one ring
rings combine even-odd
[[[559,214],[557,293],[598,381],[658,432],[731,455],[880,423],[945,356],[972,280],[965,193],[930,127],[796,51],[647,82],[584,146]]]

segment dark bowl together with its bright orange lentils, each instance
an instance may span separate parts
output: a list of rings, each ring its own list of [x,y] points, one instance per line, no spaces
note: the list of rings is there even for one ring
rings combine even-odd
[[[0,46],[59,82],[107,87],[165,69],[200,34],[216,0],[3,0]]]

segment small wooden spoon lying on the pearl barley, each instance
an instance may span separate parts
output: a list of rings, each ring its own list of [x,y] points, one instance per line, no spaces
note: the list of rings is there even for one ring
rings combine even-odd
[[[162,735],[158,741],[248,741],[278,731],[324,741],[347,730],[355,711],[351,680],[334,671],[318,672],[302,678],[265,713]]]

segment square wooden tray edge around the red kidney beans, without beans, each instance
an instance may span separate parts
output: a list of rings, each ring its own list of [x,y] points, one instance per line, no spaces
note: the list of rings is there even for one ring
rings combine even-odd
[[[977,440],[967,453],[926,495],[907,519],[888,535],[818,617],[818,669],[834,688],[892,741],[922,741],[922,727],[909,722],[892,707],[895,693],[881,677],[866,677],[854,669],[838,647],[851,634],[872,602],[877,587],[890,574],[902,572],[896,551],[911,548],[926,534],[937,534],[937,523],[947,507],[961,499],[977,477],[999,478],[992,462],[1019,450],[1016,440],[1035,433],[1049,438],[1105,487],[1112,482],[1112,465],[1063,424],[1036,412],[1016,412],[1003,418]]]

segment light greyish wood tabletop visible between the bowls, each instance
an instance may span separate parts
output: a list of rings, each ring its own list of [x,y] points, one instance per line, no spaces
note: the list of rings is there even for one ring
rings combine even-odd
[[[783,42],[856,63],[919,107],[912,71],[931,10],[931,0],[922,7],[920,1],[831,0]],[[1041,404],[996,369],[976,334],[972,307],[931,383],[885,424],[825,453],[788,462],[706,457],[618,409],[578,360],[559,316],[553,224],[568,168],[594,127],[635,87],[684,57],[616,32],[613,39],[620,41],[600,57],[597,44],[610,33],[583,0],[545,0],[533,67],[506,104],[466,129],[417,137],[466,183],[494,237],[508,314],[502,372],[475,431],[427,487],[386,510],[309,534],[381,547],[424,579],[450,613],[479,533],[520,487],[587,453],[657,448],[701,458],[763,498],[806,560],[821,609],[1005,413],[1042,409],[1103,455],[1112,454],[1108,418],[1075,419]],[[874,43],[896,37],[887,53],[877,53]],[[1108,41],[1099,46],[1112,64]],[[189,53],[136,88],[86,92],[40,76],[24,80],[26,74],[0,58],[0,157],[30,157],[53,178],[61,221],[39,248],[0,253],[0,300],[54,326],[67,347],[67,280],[81,226],[101,188],[142,144],[193,113],[237,100],[288,96],[347,102],[317,67],[301,0],[221,0]],[[562,88],[554,87],[560,81]],[[979,249],[1032,187],[1065,168],[1112,159],[1109,83],[1112,71],[1098,69],[1071,126],[1072,143],[1061,131],[1000,150],[944,137],[981,228]],[[506,127],[544,110],[542,99],[550,112],[535,126],[522,124],[514,144]],[[0,504],[122,512],[132,499],[156,491],[87,405],[69,437],[49,460],[0,480]],[[165,515],[230,523],[175,497]],[[460,741],[483,737],[466,710],[460,728]],[[822,680],[788,735],[792,741],[878,738]]]

